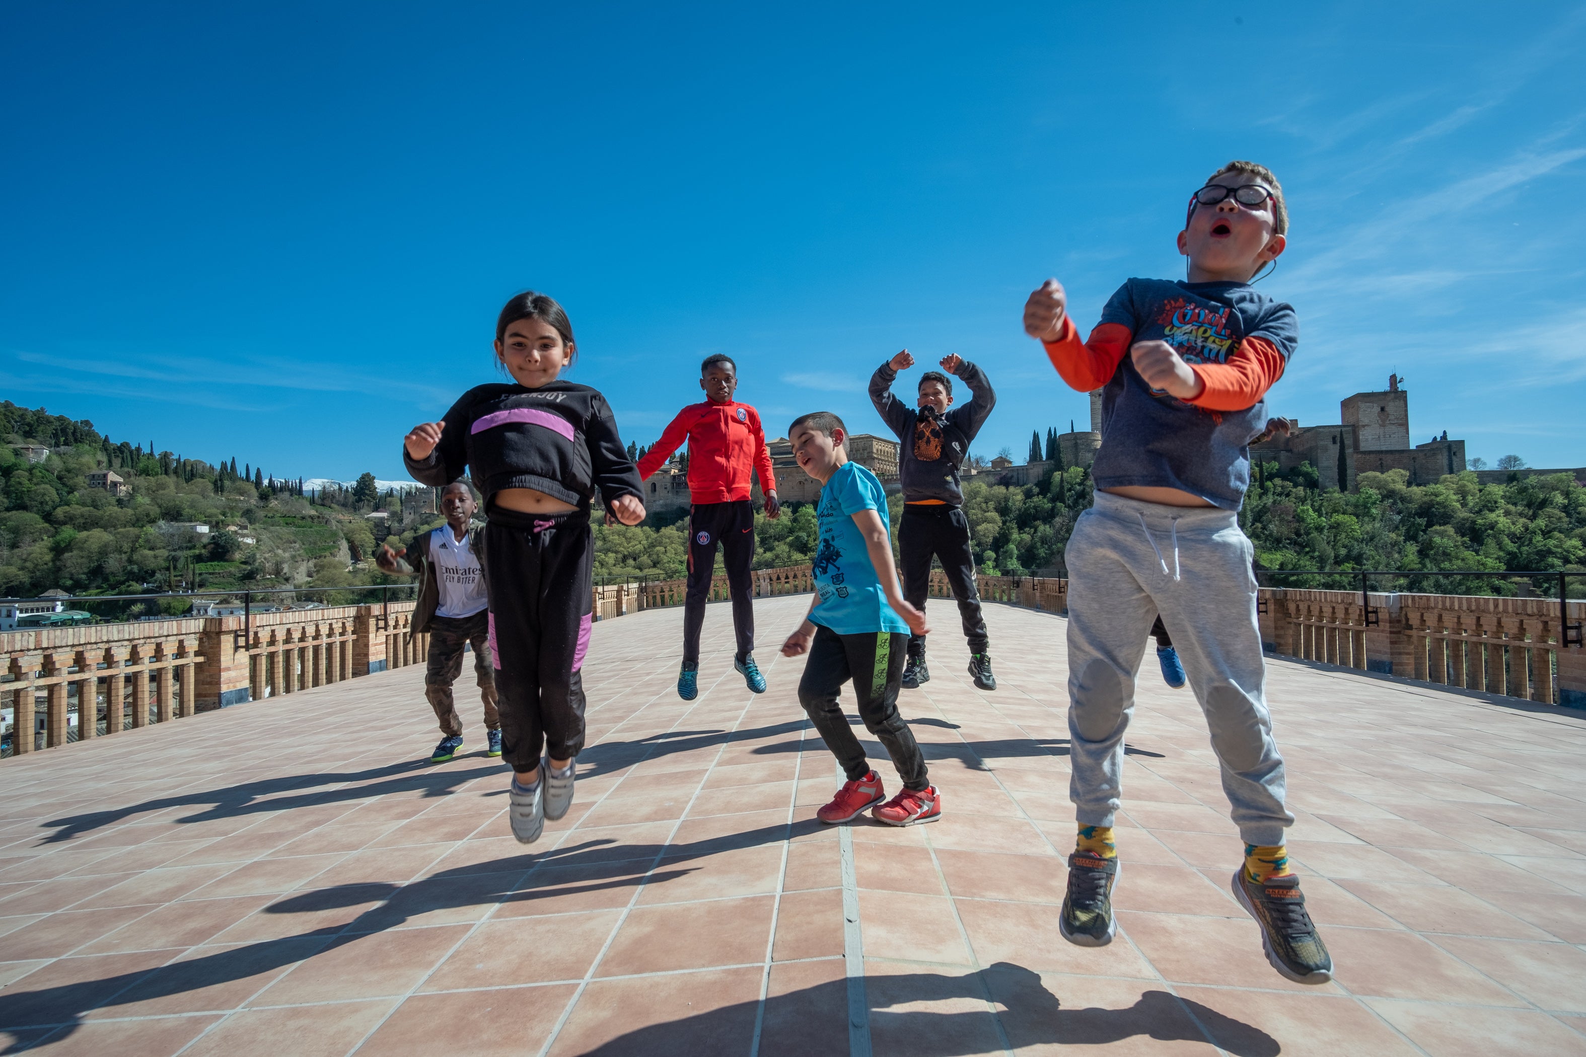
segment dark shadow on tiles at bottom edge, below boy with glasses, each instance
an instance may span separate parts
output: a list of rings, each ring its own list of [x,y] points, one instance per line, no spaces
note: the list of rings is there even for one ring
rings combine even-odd
[[[1283,1049],[1261,1028],[1166,990],[1145,990],[1121,1009],[1077,1003],[1066,1008],[1058,995],[1047,990],[1039,973],[1009,962],[963,976],[868,976],[864,989],[871,1038],[882,1049],[912,1057],[963,1057],[1004,1046],[1015,1051],[1039,1044],[1101,1046],[1136,1036],[1164,1043],[1213,1043],[1237,1057],[1277,1057]],[[961,1003],[964,998],[996,1003],[996,1019],[1007,1043],[998,1040],[998,1024],[983,1009],[931,1013],[918,1008],[918,1003]],[[904,1005],[915,1008],[893,1011]],[[760,1052],[766,1057],[845,1054],[847,1011],[849,984],[842,978],[771,995],[764,1003]],[[739,1038],[747,1043],[755,1014],[755,1002],[741,1002],[639,1027],[582,1052],[585,1057],[693,1057],[701,1049],[701,1040],[712,1040],[726,1052]]]

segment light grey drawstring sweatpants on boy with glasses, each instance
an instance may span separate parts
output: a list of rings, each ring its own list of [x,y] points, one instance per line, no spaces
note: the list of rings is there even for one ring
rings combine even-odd
[[[1069,799],[1080,826],[1112,826],[1123,732],[1151,618],[1161,613],[1212,731],[1223,792],[1247,845],[1281,845],[1283,757],[1272,740],[1251,545],[1231,510],[1096,493],[1067,545]]]

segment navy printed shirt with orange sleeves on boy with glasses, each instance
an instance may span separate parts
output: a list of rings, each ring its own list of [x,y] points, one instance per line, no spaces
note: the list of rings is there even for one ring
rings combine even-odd
[[[1182,401],[1153,390],[1129,347],[1166,341],[1205,390]],[[1178,488],[1237,510],[1250,487],[1250,441],[1266,428],[1264,396],[1299,344],[1294,309],[1245,282],[1129,279],[1080,341],[1072,317],[1045,342],[1063,380],[1102,390],[1098,488]]]

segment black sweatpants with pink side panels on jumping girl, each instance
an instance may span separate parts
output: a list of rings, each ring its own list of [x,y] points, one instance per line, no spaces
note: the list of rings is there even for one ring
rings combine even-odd
[[[584,653],[590,645],[595,536],[587,510],[536,515],[492,507],[484,570],[490,591],[501,759],[533,770],[544,751],[584,748]]]

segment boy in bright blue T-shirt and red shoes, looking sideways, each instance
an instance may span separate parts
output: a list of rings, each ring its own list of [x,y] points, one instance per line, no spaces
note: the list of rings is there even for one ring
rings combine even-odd
[[[822,483],[820,545],[815,551],[815,601],[809,616],[782,645],[782,656],[809,653],[798,699],[837,757],[849,780],[826,807],[822,822],[847,822],[879,803],[871,818],[914,826],[942,816],[942,797],[929,783],[925,756],[898,715],[898,691],[909,632],[929,631],[925,613],[904,601],[887,529],[887,493],[875,474],[849,461],[847,426],[831,412],[796,418],[788,426],[793,458]],[[853,680],[864,729],[891,756],[902,792],[880,803],[880,777],[864,759],[837,693]]]

